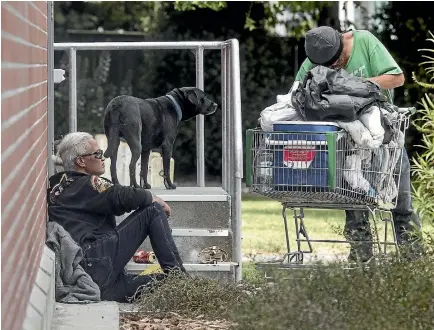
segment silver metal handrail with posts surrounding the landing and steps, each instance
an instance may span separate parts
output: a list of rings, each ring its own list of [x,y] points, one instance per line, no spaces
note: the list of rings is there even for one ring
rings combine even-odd
[[[82,50],[193,50],[196,57],[196,86],[204,90],[205,49],[221,50],[222,55],[222,187],[231,196],[231,229],[233,256],[238,263],[235,278],[241,280],[241,180],[243,177],[243,143],[241,125],[241,87],[239,43],[226,41],[182,42],[67,42],[54,43],[55,51],[68,51],[69,79],[69,128],[77,130],[77,57]],[[51,112],[54,112],[52,106]],[[54,123],[50,123],[54,125]],[[197,186],[205,186],[204,118],[196,119]],[[51,161],[51,160],[49,160]],[[52,174],[52,173],[50,173]]]

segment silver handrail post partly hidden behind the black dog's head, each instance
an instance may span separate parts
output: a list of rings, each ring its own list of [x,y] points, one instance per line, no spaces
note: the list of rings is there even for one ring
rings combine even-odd
[[[203,47],[195,51],[196,57],[196,87],[204,90],[203,75]],[[205,132],[204,116],[196,117],[196,157],[197,157],[197,186],[205,187]]]

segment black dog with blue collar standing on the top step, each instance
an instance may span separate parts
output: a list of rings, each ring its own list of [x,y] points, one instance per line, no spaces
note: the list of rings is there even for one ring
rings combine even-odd
[[[202,90],[194,87],[176,88],[155,99],[143,100],[122,95],[111,100],[104,114],[104,131],[108,141],[104,157],[111,159],[112,181],[119,182],[116,159],[120,137],[123,137],[131,149],[130,185],[139,187],[136,182],[136,162],[141,154],[140,184],[143,188],[151,188],[147,182],[149,155],[152,149],[161,147],[164,185],[167,189],[175,189],[176,186],[170,180],[169,168],[178,123],[199,114],[210,115],[216,109],[217,104]]]

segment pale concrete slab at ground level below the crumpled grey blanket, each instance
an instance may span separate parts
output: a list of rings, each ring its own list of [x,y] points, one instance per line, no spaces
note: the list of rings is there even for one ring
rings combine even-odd
[[[119,330],[119,305],[56,303],[51,330]]]

